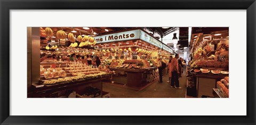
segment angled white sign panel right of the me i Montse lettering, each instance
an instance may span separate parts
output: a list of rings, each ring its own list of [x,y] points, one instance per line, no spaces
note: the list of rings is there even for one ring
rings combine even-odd
[[[158,41],[154,37],[151,37],[150,35],[148,35],[146,32],[142,30],[140,30],[140,39],[143,41],[146,41],[149,44],[155,45],[159,48],[163,48],[163,44],[161,43],[161,41]]]

